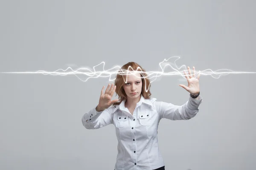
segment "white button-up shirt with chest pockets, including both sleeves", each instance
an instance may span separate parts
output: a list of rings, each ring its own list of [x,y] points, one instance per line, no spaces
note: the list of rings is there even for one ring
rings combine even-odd
[[[96,107],[82,116],[82,124],[87,129],[98,129],[109,124],[116,127],[118,140],[115,170],[154,170],[164,166],[157,139],[160,119],[188,120],[198,113],[202,97],[189,100],[179,106],[145,99],[142,95],[134,113],[125,108],[125,100],[120,105],[111,106],[97,112]]]

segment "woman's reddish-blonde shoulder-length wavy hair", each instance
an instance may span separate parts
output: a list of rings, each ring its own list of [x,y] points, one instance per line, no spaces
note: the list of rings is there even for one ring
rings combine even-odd
[[[130,66],[130,67],[129,67]],[[140,67],[139,69],[141,69],[142,73],[140,73],[141,77],[142,77],[142,90],[141,90],[141,94],[145,99],[150,99],[151,96],[151,92],[150,92],[150,80],[147,77],[147,74],[145,73],[145,69],[143,69],[139,64],[137,64],[136,62],[128,62],[125,65],[123,65],[121,67],[121,69],[118,71],[117,75],[116,75],[116,79],[115,79],[115,85],[116,85],[116,95],[118,95],[118,102],[113,103],[114,105],[119,105],[123,100],[127,99],[127,95],[125,94],[125,90],[123,88],[123,85],[125,84],[124,81],[124,76],[123,76],[123,70],[125,71],[137,71],[137,68]],[[129,70],[128,70],[129,68]],[[139,71],[139,70],[138,70]],[[119,74],[120,73],[120,74]],[[144,80],[143,80],[144,79]],[[146,87],[145,87],[146,85]],[[148,89],[148,91],[146,91],[146,89]]]

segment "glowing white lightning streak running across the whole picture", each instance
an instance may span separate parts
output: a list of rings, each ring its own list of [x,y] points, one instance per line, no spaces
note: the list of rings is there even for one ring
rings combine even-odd
[[[174,63],[168,62],[169,59],[172,59],[172,60],[175,59]],[[101,62],[100,64],[95,65],[93,67],[93,71],[91,71],[88,68],[78,68],[76,70],[73,70],[71,67],[68,67],[66,70],[58,69],[58,70],[53,71],[53,72],[48,72],[48,71],[28,72],[27,71],[27,72],[2,72],[2,73],[9,73],[9,74],[44,74],[44,75],[52,75],[52,76],[75,75],[76,77],[78,77],[83,82],[86,82],[90,78],[98,78],[98,77],[109,77],[109,81],[113,81],[113,80],[116,79],[115,75],[119,74],[119,75],[123,75],[123,77],[125,75],[125,77],[126,77],[126,79],[124,78],[125,83],[127,82],[127,75],[130,75],[130,74],[135,75],[136,73],[145,73],[147,76],[141,77],[141,78],[150,79],[150,83],[154,82],[154,80],[156,80],[157,77],[160,77],[160,76],[180,75],[184,79],[186,79],[186,76],[184,75],[183,71],[185,71],[186,73],[187,73],[187,71],[190,71],[192,73],[192,76],[195,77],[195,78],[197,78],[199,75],[200,76],[201,75],[205,75],[205,76],[210,75],[211,77],[213,77],[215,79],[218,79],[221,76],[227,75],[227,74],[255,74],[256,73],[256,72],[232,71],[232,70],[228,70],[228,69],[220,69],[220,70],[217,70],[217,71],[212,71],[211,69],[206,69],[204,71],[193,71],[193,70],[186,69],[186,65],[182,65],[182,66],[180,66],[180,68],[177,67],[176,61],[178,59],[180,59],[180,57],[170,57],[169,59],[164,59],[162,62],[159,63],[161,71],[143,72],[140,67],[138,67],[136,70],[133,70],[133,68],[131,68],[130,66],[129,66],[128,70],[122,70],[120,66],[115,66],[111,69],[105,70],[104,69],[105,62]],[[103,71],[96,71],[96,67],[98,67],[99,65],[102,65],[102,64],[103,64]],[[165,72],[164,70],[165,70],[166,67],[170,67],[174,71]],[[182,70],[181,68],[185,68],[185,69]],[[130,71],[130,70],[132,70],[132,71]],[[78,75],[86,75],[86,76],[88,76],[88,78],[83,80]],[[187,75],[189,76],[188,73],[187,73]],[[111,77],[114,77],[114,78],[111,79]],[[148,88],[149,88],[149,85],[148,85]],[[145,84],[145,89],[146,89],[146,84]],[[146,91],[148,91],[148,89],[146,89]]]

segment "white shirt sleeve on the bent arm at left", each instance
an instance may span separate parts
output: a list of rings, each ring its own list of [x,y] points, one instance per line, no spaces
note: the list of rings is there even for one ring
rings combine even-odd
[[[97,107],[97,106],[96,106]],[[96,111],[96,107],[82,116],[82,124],[86,129],[99,129],[109,124],[113,124],[113,108],[107,108],[104,111]]]

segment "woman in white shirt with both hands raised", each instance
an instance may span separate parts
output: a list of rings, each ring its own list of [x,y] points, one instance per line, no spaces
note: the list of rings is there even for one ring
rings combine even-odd
[[[141,71],[137,71],[140,67]],[[131,71],[126,77],[123,70]],[[184,72],[188,87],[180,85],[190,93],[189,100],[181,105],[173,105],[151,98],[150,80],[145,78],[145,70],[136,62],[123,65],[115,79],[115,85],[103,86],[99,104],[85,113],[82,124],[87,129],[98,129],[109,124],[116,127],[118,154],[115,170],[164,170],[165,164],[160,154],[157,129],[160,119],[191,119],[198,113],[202,97],[199,95],[199,77]],[[135,73],[136,72],[136,73]],[[116,92],[118,99],[112,100]],[[111,106],[113,105],[113,106]],[[110,107],[111,106],[111,107]]]

